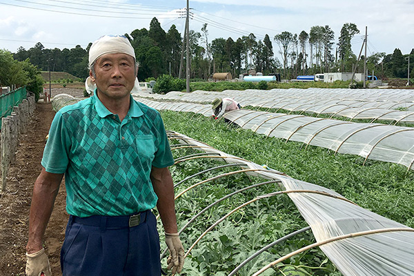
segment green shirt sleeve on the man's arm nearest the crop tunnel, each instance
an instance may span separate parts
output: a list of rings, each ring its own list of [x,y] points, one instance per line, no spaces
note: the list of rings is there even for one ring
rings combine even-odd
[[[157,168],[166,168],[174,164],[174,158],[172,157],[166,129],[161,116],[159,116],[159,124],[157,124],[157,129],[159,134],[159,143],[157,146],[157,152],[155,152],[154,161],[152,161],[152,166]]]

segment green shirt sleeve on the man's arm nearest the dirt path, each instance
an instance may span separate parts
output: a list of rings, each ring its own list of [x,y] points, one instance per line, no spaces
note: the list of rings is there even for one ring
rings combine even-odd
[[[49,130],[41,165],[47,172],[64,173],[69,163],[70,139],[61,112],[57,112]]]

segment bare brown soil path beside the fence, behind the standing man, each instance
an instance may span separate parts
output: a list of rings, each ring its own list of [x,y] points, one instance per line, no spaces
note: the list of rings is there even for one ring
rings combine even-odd
[[[52,95],[66,92],[82,97],[83,90],[52,89]],[[41,157],[50,124],[55,117],[50,103],[39,101],[28,131],[20,135],[16,161],[8,172],[7,192],[0,198],[0,275],[25,275],[28,217],[34,181],[41,171]],[[52,275],[61,275],[60,248],[63,243],[68,214],[66,213],[64,179],[55,201],[55,208],[46,229],[45,242]]]

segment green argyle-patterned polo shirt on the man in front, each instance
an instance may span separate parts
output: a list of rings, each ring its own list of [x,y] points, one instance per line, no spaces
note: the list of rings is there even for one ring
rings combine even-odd
[[[130,215],[154,208],[152,166],[174,164],[157,110],[130,97],[123,121],[95,95],[61,108],[50,127],[41,165],[65,173],[70,215]]]

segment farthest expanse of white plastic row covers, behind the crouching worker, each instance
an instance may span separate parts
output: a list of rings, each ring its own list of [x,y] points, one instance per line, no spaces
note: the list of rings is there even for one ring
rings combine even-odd
[[[169,92],[166,95],[140,94],[153,99],[210,103],[216,97],[231,97],[242,106],[307,112],[349,119],[371,119],[414,123],[414,90],[351,89],[273,89],[224,90],[192,93]],[[402,110],[397,110],[404,109]]]

